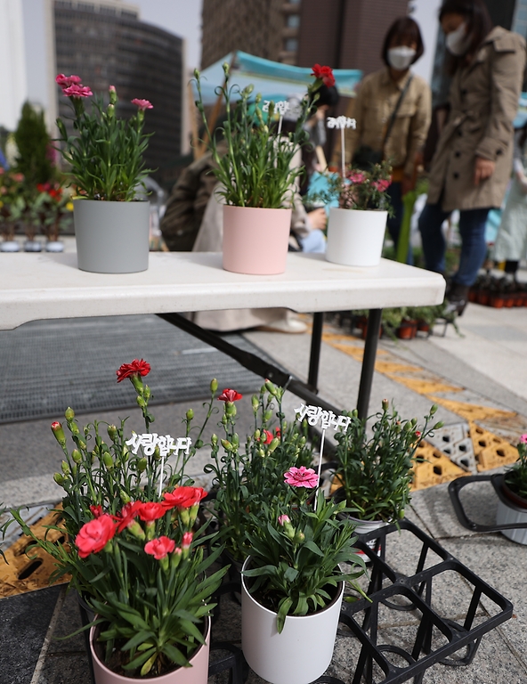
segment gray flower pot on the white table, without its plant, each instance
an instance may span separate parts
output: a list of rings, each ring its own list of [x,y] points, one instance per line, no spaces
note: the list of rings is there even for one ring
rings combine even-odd
[[[75,199],[77,265],[92,273],[146,271],[150,202]]]

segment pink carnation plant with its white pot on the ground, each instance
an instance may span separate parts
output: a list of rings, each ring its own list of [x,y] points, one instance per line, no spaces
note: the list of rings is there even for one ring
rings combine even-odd
[[[312,468],[290,468],[284,478],[281,503],[263,502],[251,514],[241,646],[264,680],[309,684],[331,662],[345,582],[362,594],[355,581],[364,564],[353,525],[338,518],[345,502],[326,501],[321,490],[309,501],[319,484]]]

